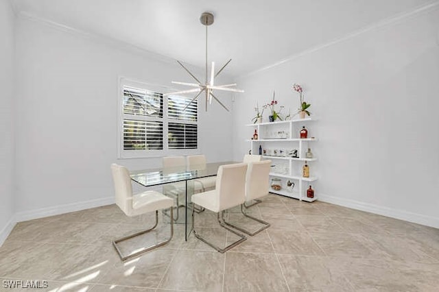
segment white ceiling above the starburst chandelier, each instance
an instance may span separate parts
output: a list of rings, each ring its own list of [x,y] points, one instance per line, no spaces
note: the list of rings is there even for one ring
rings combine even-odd
[[[209,62],[243,75],[432,0],[12,0],[26,12],[196,66]]]

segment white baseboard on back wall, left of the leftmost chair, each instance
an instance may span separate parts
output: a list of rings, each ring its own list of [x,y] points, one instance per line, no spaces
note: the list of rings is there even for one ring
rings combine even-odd
[[[106,206],[110,204],[115,204],[115,197],[104,197],[101,199],[91,199],[90,201],[64,204],[59,206],[52,206],[47,208],[40,208],[36,210],[28,210],[23,212],[16,212],[15,220],[16,222],[33,220],[48,216],[60,215],[68,212],[75,212],[89,208],[95,208],[100,206]]]

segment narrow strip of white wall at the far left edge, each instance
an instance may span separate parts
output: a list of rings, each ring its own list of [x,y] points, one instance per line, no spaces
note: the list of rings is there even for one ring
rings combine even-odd
[[[0,0],[0,245],[14,226],[14,20]]]

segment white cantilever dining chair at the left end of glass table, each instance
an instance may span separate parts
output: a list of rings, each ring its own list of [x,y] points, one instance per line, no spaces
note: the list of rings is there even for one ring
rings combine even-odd
[[[117,254],[119,254],[121,260],[126,260],[128,258],[139,256],[144,252],[154,250],[154,248],[169,243],[169,241],[171,241],[172,239],[172,236],[174,235],[174,224],[172,223],[173,222],[172,207],[174,205],[174,200],[156,191],[145,191],[143,193],[138,193],[136,195],[133,195],[130,173],[128,169],[126,169],[126,167],[122,167],[121,165],[117,165],[113,163],[111,165],[111,173],[112,173],[113,184],[115,187],[116,204],[117,206],[119,206],[119,208],[121,208],[121,210],[127,216],[134,217],[137,215],[142,215],[146,212],[156,211],[156,223],[152,228],[140,232],[136,232],[129,236],[124,236],[120,239],[115,239],[114,241],[112,241],[112,245],[115,247]],[[123,255],[117,244],[120,243],[121,241],[127,241],[128,239],[132,239],[135,236],[139,236],[154,230],[154,228],[156,228],[156,226],[158,225],[158,210],[163,210],[165,208],[171,209],[171,215],[170,215],[171,230],[170,230],[169,239],[165,241],[161,241],[149,247],[143,247],[141,250],[135,250],[130,254]]]

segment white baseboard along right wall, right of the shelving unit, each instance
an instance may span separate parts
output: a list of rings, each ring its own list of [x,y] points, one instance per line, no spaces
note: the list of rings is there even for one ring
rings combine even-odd
[[[439,228],[439,217],[431,217],[413,212],[407,212],[404,210],[397,210],[394,208],[388,208],[383,206],[377,206],[364,202],[358,202],[351,199],[345,199],[342,197],[333,197],[330,195],[319,194],[318,199],[322,202],[327,202],[339,206],[353,208],[356,210],[371,212],[386,217],[392,217],[395,219],[401,219],[412,223],[418,223],[425,226]]]

